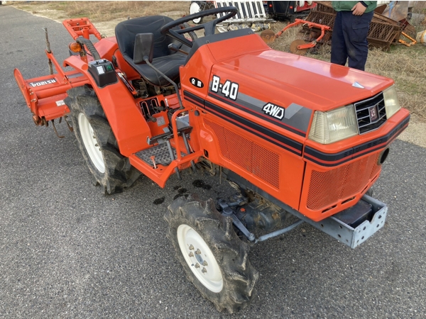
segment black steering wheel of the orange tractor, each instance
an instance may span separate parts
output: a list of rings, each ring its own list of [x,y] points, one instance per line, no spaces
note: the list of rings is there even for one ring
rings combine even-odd
[[[217,15],[217,13],[226,13],[224,16],[220,18],[214,19],[213,21],[209,21],[206,23],[202,23],[198,26],[193,26],[185,29],[175,29],[173,28],[180,26],[182,23],[187,23],[196,18],[203,18],[204,16]],[[178,18],[175,21],[171,21],[160,28],[160,33],[162,35],[169,35],[175,40],[187,45],[188,47],[192,47],[192,41],[188,40],[183,36],[185,33],[190,33],[195,30],[204,29],[204,36],[213,35],[214,30],[216,28],[217,23],[228,20],[238,13],[238,9],[234,6],[223,6],[222,8],[214,8],[206,11],[200,11],[194,14],[190,14],[190,16],[184,16],[182,18]]]

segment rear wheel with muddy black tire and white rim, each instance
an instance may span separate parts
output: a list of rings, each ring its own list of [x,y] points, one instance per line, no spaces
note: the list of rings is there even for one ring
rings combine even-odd
[[[80,86],[67,91],[65,103],[80,151],[105,194],[123,191],[138,179],[140,172],[119,152],[118,143],[93,89]]]

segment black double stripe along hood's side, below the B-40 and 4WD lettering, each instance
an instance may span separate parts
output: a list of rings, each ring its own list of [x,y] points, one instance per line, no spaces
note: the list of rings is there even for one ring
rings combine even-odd
[[[273,130],[269,130],[268,128],[264,128],[261,125],[253,123],[246,118],[238,116],[232,112],[226,111],[224,108],[221,108],[214,103],[210,103],[206,101],[206,109],[212,111],[217,116],[223,118],[230,123],[242,128],[244,130],[249,130],[250,133],[257,135],[260,138],[265,138],[268,142],[272,142],[279,147],[283,147],[285,150],[292,152],[295,155],[302,156],[302,148],[303,145],[300,142],[296,142],[295,140],[291,140],[290,138],[285,137],[284,135],[280,135]]]

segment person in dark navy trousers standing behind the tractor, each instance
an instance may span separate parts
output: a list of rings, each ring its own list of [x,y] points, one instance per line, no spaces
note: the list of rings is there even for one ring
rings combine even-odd
[[[377,1],[332,1],[337,11],[332,34],[332,59],[337,65],[348,65],[364,71],[367,34]]]

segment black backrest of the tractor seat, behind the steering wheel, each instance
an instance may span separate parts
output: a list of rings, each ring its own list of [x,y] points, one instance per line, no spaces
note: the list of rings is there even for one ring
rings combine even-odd
[[[167,16],[143,16],[117,24],[115,28],[116,40],[124,59],[128,61],[130,59],[133,62],[135,38],[138,33],[153,33],[154,58],[169,55],[168,45],[172,43],[172,38],[162,35],[160,28],[170,21],[173,21],[173,19]]]

